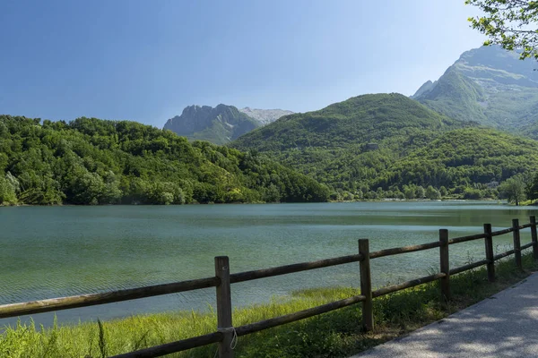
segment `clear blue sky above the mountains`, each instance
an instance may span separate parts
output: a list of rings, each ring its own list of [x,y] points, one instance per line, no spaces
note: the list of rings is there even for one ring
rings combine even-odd
[[[162,127],[193,104],[412,95],[481,46],[476,14],[464,0],[0,0],[0,114]]]

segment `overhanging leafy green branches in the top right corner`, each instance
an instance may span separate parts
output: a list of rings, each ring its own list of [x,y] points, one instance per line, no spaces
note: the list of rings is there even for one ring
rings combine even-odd
[[[538,60],[538,1],[465,0],[477,6],[483,16],[469,18],[473,29],[488,36],[485,46],[500,45],[507,50],[521,50],[520,58]]]

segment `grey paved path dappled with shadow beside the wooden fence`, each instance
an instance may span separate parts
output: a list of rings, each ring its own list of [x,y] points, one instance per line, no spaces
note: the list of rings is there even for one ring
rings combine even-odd
[[[358,357],[538,357],[538,273]]]

